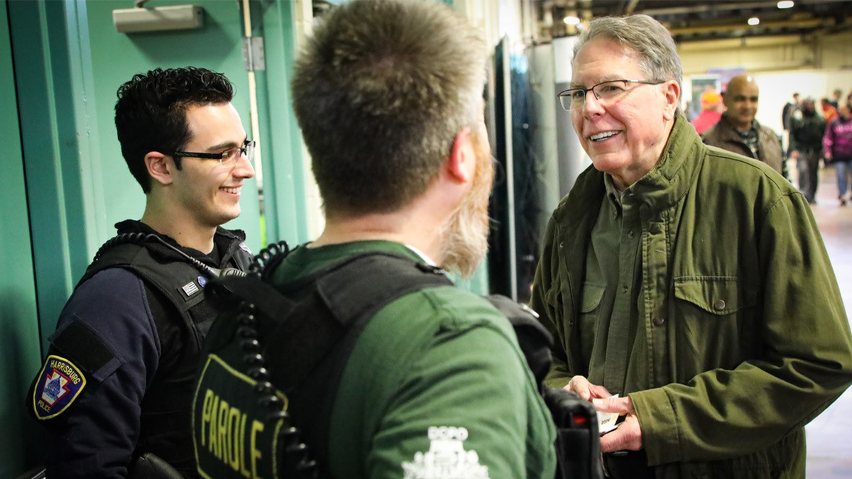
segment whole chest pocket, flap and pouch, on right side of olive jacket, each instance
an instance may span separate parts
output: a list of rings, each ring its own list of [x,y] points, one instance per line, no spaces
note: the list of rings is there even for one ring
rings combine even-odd
[[[733,369],[754,354],[751,345],[757,294],[735,276],[674,279],[676,319],[671,344],[676,378],[708,369]]]

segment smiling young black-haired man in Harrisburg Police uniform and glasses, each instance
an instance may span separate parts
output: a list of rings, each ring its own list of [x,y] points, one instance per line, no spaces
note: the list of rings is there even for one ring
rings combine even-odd
[[[220,227],[239,216],[254,176],[254,142],[232,98],[224,75],[194,67],[118,89],[118,141],[145,212],[119,222],[125,236],[89,265],[27,395],[47,430],[51,479],[125,477],[144,453],[197,476],[190,401],[216,313],[204,284],[210,268],[245,269],[251,258],[245,234]]]

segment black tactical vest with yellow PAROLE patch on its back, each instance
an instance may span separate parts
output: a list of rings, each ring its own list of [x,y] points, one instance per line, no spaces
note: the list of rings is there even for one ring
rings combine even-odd
[[[199,472],[217,479],[330,476],[323,466],[331,406],[360,333],[384,305],[436,286],[452,286],[439,268],[379,252],[288,288],[289,297],[303,298],[298,302],[256,278],[216,280],[211,289],[231,309],[210,330],[193,399]],[[508,298],[492,303],[509,315],[525,308]],[[550,335],[532,316],[514,316],[522,316],[513,326],[541,384]]]

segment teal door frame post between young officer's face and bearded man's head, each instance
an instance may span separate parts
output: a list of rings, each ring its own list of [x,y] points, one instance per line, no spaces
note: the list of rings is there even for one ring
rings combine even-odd
[[[262,124],[263,194],[269,242],[291,245],[308,236],[302,133],[296,124],[290,81],[296,62],[293,2],[253,1],[252,35],[262,36],[266,70],[256,72],[257,109]]]

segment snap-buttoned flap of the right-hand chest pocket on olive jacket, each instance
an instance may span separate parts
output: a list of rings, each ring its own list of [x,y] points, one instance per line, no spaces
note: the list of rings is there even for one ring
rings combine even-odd
[[[675,297],[713,315],[730,315],[754,306],[757,294],[746,291],[734,276],[682,276],[675,278]]]

